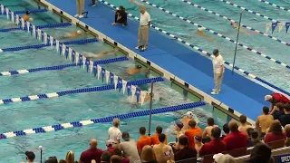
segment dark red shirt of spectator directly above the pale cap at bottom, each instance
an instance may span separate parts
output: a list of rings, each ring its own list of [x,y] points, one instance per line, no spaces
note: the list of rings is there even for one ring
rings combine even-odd
[[[218,154],[226,151],[226,143],[220,139],[212,139],[199,150],[199,156]]]

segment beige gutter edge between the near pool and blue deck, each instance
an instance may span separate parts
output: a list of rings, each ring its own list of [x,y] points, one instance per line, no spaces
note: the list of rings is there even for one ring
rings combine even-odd
[[[113,39],[111,39],[110,37],[108,37],[105,34],[102,34],[99,31],[95,30],[94,28],[92,28],[88,24],[82,23],[81,20],[76,19],[75,17],[73,17],[73,15],[70,15],[70,14],[67,14],[67,13],[63,12],[58,7],[48,3],[45,0],[34,0],[34,1],[46,6],[49,10],[53,11],[53,13],[59,14],[63,18],[67,19],[68,21],[71,21],[72,24],[75,24],[75,25],[81,27],[85,31],[89,31],[92,35],[95,35],[96,37],[98,37],[103,42],[109,43],[111,45],[118,46],[121,49],[121,51],[123,53],[126,53],[131,59],[133,59],[135,61],[143,62],[144,64],[149,65],[155,72],[161,72],[162,76],[164,78],[168,79],[171,82],[178,83],[178,85],[180,87],[182,87],[185,90],[193,93],[201,101],[206,101],[208,104],[211,104],[212,106],[214,106],[218,110],[221,110],[221,111],[225,112],[227,115],[233,117],[236,120],[238,120],[239,116],[241,115],[241,113],[237,112],[237,110],[233,110],[233,109],[229,108],[222,101],[218,101],[217,99],[215,99],[212,96],[208,95],[206,92],[198,90],[196,87],[194,87],[193,85],[190,85],[189,83],[183,81],[182,79],[180,79],[176,75],[172,74],[171,72],[168,72],[168,71],[162,69],[159,65],[155,64],[154,62],[150,62],[146,58],[142,57],[140,54],[135,53],[135,52],[131,51],[129,48],[123,46],[121,43],[115,42]],[[255,121],[251,120],[249,118],[247,118],[247,122],[250,123],[250,124],[255,125]]]

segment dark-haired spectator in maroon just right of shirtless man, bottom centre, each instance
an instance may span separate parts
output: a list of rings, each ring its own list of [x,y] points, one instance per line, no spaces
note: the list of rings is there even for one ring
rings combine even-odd
[[[197,158],[197,150],[189,148],[189,138],[187,136],[181,135],[179,137],[178,147],[179,151],[176,152],[174,156],[176,161],[188,158]]]

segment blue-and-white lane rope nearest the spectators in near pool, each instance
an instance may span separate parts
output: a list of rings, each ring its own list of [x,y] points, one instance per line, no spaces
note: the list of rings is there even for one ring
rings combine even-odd
[[[191,108],[197,108],[197,107],[204,106],[204,105],[206,105],[206,102],[204,102],[204,101],[191,102],[191,103],[185,103],[185,104],[181,104],[181,105],[175,105],[175,106],[170,106],[170,107],[154,109],[154,110],[152,110],[151,113],[154,115],[154,114],[172,112],[172,111],[177,111],[177,110],[188,110]],[[96,124],[96,123],[110,123],[115,118],[118,118],[120,120],[125,120],[125,119],[131,119],[131,118],[135,118],[135,117],[148,116],[148,115],[150,115],[150,110],[141,110],[141,111],[126,113],[126,114],[118,114],[118,115],[113,115],[113,116],[98,118],[98,119],[92,119],[92,120],[80,120],[80,121],[73,121],[73,122],[67,122],[67,123],[62,123],[62,124],[55,124],[52,126],[38,127],[38,128],[34,128],[34,129],[23,129],[23,130],[17,130],[17,131],[9,131],[9,132],[5,132],[5,133],[0,134],[0,139],[9,139],[9,138],[13,138],[13,137],[27,136],[27,135],[31,135],[31,134],[40,134],[40,133],[58,131],[58,130],[69,129],[69,128],[78,128],[78,127],[83,127],[83,126],[87,126],[90,124]]]

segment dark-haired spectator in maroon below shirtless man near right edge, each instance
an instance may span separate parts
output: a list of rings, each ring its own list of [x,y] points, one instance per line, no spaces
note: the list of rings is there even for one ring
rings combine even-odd
[[[269,132],[266,134],[264,138],[264,141],[265,143],[269,143],[281,139],[286,139],[285,133],[282,130],[282,126],[279,120],[274,120],[270,126]]]

